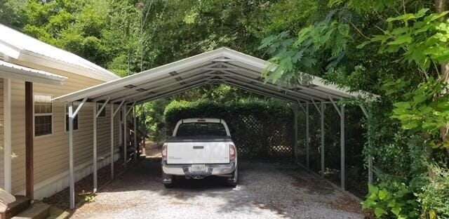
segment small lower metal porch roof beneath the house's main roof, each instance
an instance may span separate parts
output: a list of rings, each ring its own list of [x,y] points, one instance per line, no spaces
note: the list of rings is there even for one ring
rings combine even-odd
[[[0,77],[53,85],[62,85],[67,79],[67,77],[63,77],[58,74],[52,74],[38,69],[15,65],[3,60],[0,60]]]

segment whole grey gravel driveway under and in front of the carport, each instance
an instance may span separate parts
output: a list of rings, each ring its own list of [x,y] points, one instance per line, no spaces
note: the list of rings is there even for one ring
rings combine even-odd
[[[74,218],[363,218],[358,201],[295,166],[239,163],[239,185],[225,180],[161,183],[159,161],[143,160],[107,185]]]

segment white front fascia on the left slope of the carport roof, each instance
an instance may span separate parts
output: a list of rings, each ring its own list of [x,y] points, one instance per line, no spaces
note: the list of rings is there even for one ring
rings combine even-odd
[[[222,56],[222,51],[220,50],[201,53],[199,55],[195,55],[176,62],[172,62],[167,65],[162,65],[160,67],[155,67],[153,69],[149,69],[147,71],[140,72],[138,74],[132,74],[128,77],[123,77],[121,79],[109,81],[103,84],[99,84],[97,86],[92,86],[91,88],[85,88],[81,91],[69,93],[67,95],[62,95],[58,98],[54,98],[53,100],[75,101],[83,99],[86,96],[91,97],[93,95],[98,95],[100,93],[107,93],[113,89],[127,86],[129,84],[136,84],[139,82],[142,83],[142,81],[147,81],[149,79],[160,77],[161,75],[168,74],[169,72],[176,72],[179,71],[180,69],[184,69],[192,65],[199,65],[202,62],[208,62],[209,60],[219,58],[220,56]]]

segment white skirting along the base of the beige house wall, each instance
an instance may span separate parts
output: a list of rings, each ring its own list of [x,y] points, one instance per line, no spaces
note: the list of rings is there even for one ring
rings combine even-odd
[[[109,152],[102,154],[107,156],[98,156],[99,158],[105,157],[105,159],[101,159],[98,161],[98,168],[102,168],[103,166],[107,166],[111,163]],[[119,149],[114,150],[114,161],[119,159]],[[88,161],[79,166],[75,167],[74,170],[75,182],[85,178],[86,176],[93,173],[93,162]],[[48,178],[43,180],[41,183],[37,183],[34,185],[34,199],[43,199],[45,197],[51,197],[53,194],[56,194],[65,188],[69,187],[69,171],[65,171],[58,175],[53,176],[52,178]],[[25,195],[25,190],[22,190],[16,195]]]

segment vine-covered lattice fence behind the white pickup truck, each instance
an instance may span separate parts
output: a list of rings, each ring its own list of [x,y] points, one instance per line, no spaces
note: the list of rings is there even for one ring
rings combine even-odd
[[[243,159],[293,159],[293,114],[291,107],[277,102],[177,102],[169,105],[166,125],[187,118],[225,119]],[[170,134],[170,133],[168,133]]]

